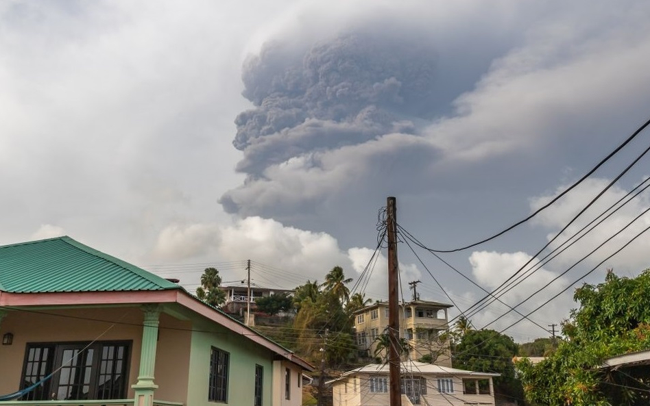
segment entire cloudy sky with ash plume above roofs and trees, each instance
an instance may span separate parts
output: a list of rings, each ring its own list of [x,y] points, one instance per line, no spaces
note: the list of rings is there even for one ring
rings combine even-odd
[[[385,300],[387,196],[434,250],[551,201],[649,118],[649,17],[636,0],[0,2],[0,243],[68,235],[191,292],[207,266],[238,281],[250,259],[252,283],[290,289],[339,265]],[[557,278],[518,307],[559,294],[533,322],[494,321],[498,302],[470,318],[548,336],[583,281],[649,267],[647,235],[611,256],[650,223],[645,192],[551,253],[647,179],[645,157],[616,177],[649,142],[444,262],[405,234],[403,298],[420,280],[457,316],[551,254],[500,299]]]

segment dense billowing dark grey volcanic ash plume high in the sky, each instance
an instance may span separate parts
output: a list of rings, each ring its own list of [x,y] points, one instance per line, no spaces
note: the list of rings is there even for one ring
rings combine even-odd
[[[344,151],[361,157],[386,134],[416,136],[431,118],[436,65],[422,42],[354,33],[302,48],[267,43],[243,67],[243,95],[256,107],[237,116],[233,144],[248,176],[221,198],[226,210],[269,215],[278,203],[313,201],[302,183],[332,192]]]

